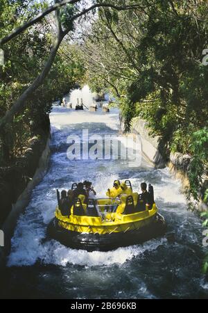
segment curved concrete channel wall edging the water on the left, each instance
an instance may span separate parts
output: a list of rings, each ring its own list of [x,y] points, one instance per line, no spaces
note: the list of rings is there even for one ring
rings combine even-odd
[[[40,157],[39,165],[35,171],[33,179],[31,179],[31,181],[28,182],[28,185],[24,189],[24,192],[21,193],[21,195],[19,195],[17,202],[12,206],[12,211],[10,211],[8,218],[6,218],[6,221],[3,223],[3,226],[1,227],[4,233],[4,247],[0,247],[0,268],[6,266],[6,257],[10,252],[10,242],[12,239],[12,235],[14,234],[15,226],[17,225],[17,220],[21,213],[24,212],[24,209],[26,209],[28,203],[30,202],[33,188],[35,188],[35,186],[37,186],[37,184],[41,182],[44,175],[46,174],[51,154],[50,143],[51,136],[46,141],[46,147],[42,152],[42,156]]]

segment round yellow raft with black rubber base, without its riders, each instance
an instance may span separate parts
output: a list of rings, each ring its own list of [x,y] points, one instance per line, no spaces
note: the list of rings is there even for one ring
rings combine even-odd
[[[129,180],[125,180],[125,185],[132,190]],[[76,187],[74,183],[71,189]],[[47,234],[64,246],[89,252],[114,250],[163,236],[166,222],[158,213],[151,184],[148,193],[150,205],[142,204],[138,193],[121,198],[89,198],[86,204],[82,197],[78,197],[73,200],[69,214],[63,216],[57,190],[58,206],[47,227]],[[122,205],[122,214],[116,213]]]

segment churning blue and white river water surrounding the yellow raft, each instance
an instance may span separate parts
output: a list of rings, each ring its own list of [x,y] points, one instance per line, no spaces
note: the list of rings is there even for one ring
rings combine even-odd
[[[201,221],[187,211],[180,182],[168,169],[155,170],[145,159],[132,161],[74,160],[67,158],[67,137],[89,134],[118,135],[119,112],[109,114],[54,107],[51,160],[31,202],[18,220],[1,296],[14,298],[208,298],[208,281],[202,274]],[[142,181],[153,184],[155,200],[166,218],[166,237],[111,252],[72,250],[54,240],[44,241],[53,218],[56,188],[89,179],[103,196],[114,179],[131,179],[139,191]]]

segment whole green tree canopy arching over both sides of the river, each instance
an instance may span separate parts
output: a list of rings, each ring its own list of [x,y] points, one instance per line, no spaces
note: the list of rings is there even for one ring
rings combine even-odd
[[[31,129],[35,112],[48,113],[66,86],[85,77],[118,99],[127,131],[133,117],[145,118],[167,152],[191,155],[190,191],[198,198],[207,177],[207,12],[200,0],[3,0],[1,141],[24,116]]]

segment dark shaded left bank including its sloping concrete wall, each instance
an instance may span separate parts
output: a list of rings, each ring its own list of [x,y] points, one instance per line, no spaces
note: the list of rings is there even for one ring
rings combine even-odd
[[[1,179],[1,230],[4,247],[0,247],[0,267],[5,265],[10,252],[17,219],[31,200],[33,188],[45,175],[50,155],[50,132],[34,136],[25,154],[10,166],[0,168]]]

